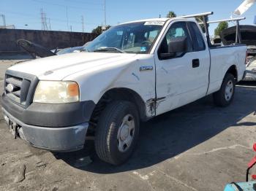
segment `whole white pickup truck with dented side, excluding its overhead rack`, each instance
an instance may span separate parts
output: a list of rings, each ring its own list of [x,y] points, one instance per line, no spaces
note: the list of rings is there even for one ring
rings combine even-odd
[[[82,149],[118,165],[132,154],[140,121],[213,93],[233,100],[246,46],[213,47],[195,20],[122,23],[82,52],[27,61],[6,71],[1,106],[15,138],[53,152]]]

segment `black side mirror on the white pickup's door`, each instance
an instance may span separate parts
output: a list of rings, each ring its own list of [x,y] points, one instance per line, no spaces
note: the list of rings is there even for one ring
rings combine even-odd
[[[172,38],[168,43],[168,52],[160,53],[159,57],[162,60],[175,58],[178,54],[187,52],[187,37]]]

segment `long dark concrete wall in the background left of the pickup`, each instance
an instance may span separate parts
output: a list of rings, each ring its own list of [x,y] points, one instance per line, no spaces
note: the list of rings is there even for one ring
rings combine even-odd
[[[50,50],[56,47],[78,47],[93,40],[97,35],[89,33],[0,29],[0,52],[22,52],[16,41],[26,39]]]

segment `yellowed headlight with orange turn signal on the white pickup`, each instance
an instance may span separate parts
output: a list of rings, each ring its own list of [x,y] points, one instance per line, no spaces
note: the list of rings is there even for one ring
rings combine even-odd
[[[76,82],[39,81],[34,102],[64,104],[79,101],[79,87]]]

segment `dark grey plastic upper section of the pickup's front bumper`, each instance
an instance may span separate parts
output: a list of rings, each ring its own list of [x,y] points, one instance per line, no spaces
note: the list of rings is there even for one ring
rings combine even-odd
[[[89,122],[95,104],[93,101],[69,104],[32,103],[24,108],[15,104],[4,93],[1,96],[1,106],[25,124],[48,128],[64,128]]]

